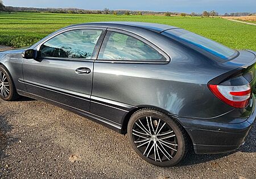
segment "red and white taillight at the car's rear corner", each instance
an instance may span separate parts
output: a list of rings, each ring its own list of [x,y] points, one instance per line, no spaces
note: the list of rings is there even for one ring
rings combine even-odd
[[[218,99],[234,108],[245,108],[249,103],[251,96],[250,84],[243,86],[223,86],[209,84],[210,91],[214,93]]]

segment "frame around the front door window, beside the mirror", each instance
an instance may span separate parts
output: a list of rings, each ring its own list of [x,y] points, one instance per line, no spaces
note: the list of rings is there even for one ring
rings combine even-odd
[[[62,58],[62,57],[40,57],[40,48],[43,44],[45,44],[47,41],[53,39],[54,37],[61,35],[62,33],[65,32],[69,32],[69,31],[76,31],[76,30],[100,30],[101,35],[96,43],[96,45],[94,46],[93,49],[93,53],[92,53],[92,57],[90,59],[86,59],[86,58]],[[71,27],[71,28],[65,28],[65,29],[60,29],[60,31],[57,31],[55,33],[53,33],[50,36],[47,36],[45,39],[43,39],[37,46],[35,46],[35,50],[36,50],[36,57],[42,61],[43,59],[52,59],[52,60],[62,60],[62,61],[85,61],[85,62],[94,62],[96,57],[98,56],[98,52],[100,49],[100,45],[104,39],[105,36],[105,31],[106,28],[104,27]]]

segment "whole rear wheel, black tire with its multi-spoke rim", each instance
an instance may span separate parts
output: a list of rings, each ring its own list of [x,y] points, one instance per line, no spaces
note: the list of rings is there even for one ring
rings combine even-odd
[[[188,137],[183,127],[156,109],[145,108],[135,112],[128,123],[127,133],[135,152],[159,167],[178,164],[188,151]]]

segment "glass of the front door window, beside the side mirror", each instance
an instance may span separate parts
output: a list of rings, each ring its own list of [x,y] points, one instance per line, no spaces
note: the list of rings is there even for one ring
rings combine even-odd
[[[41,46],[40,56],[90,59],[101,32],[96,29],[81,29],[61,33]]]

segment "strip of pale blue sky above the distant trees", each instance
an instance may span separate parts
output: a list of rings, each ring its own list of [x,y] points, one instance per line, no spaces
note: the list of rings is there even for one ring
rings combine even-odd
[[[5,6],[76,7],[90,10],[149,10],[171,12],[256,12],[256,0],[3,0]]]

